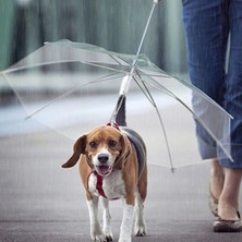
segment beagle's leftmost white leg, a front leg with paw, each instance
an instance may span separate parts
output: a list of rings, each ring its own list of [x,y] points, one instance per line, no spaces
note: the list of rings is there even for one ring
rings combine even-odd
[[[89,211],[90,222],[90,238],[93,241],[106,242],[106,237],[101,231],[100,223],[98,221],[98,197],[93,196],[92,199],[87,199],[87,207]]]

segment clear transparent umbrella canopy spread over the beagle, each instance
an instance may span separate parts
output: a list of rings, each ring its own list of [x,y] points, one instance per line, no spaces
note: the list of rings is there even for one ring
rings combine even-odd
[[[232,117],[191,83],[158,69],[145,55],[60,40],[1,72],[1,80],[17,96],[26,112],[25,123],[34,119],[72,140],[81,133],[66,126],[85,123],[92,129],[116,119],[121,93],[128,98],[128,125],[142,134],[147,146],[157,147],[150,164],[169,168],[198,164],[194,120],[223,150],[222,156],[231,158]],[[199,100],[199,107],[193,106],[194,100]]]

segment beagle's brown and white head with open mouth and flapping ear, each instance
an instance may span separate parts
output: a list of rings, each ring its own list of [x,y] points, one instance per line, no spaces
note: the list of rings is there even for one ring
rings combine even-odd
[[[62,165],[63,168],[73,167],[80,155],[86,155],[88,165],[99,174],[108,176],[113,167],[122,166],[131,154],[131,144],[126,135],[116,128],[104,125],[93,129],[81,136],[74,144],[72,157]]]

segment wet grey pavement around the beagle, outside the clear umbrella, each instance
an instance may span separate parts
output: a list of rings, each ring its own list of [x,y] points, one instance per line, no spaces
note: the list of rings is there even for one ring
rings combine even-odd
[[[65,133],[76,133],[77,137],[87,126],[64,129]],[[68,170],[61,168],[72,153],[72,140],[51,130],[0,138],[1,242],[90,241],[88,211],[77,166]],[[148,153],[150,159],[157,156],[153,145]],[[208,162],[184,167],[174,173],[154,165],[148,169],[145,203],[148,234],[133,237],[133,241],[242,241],[242,233],[213,232]],[[118,241],[121,201],[111,202],[110,206],[114,241]]]

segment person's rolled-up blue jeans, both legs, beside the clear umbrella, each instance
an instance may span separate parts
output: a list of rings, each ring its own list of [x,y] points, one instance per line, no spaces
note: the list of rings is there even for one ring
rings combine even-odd
[[[182,0],[182,3],[191,81],[234,118],[230,128],[234,161],[219,158],[219,162],[228,168],[242,168],[242,0]],[[218,157],[216,143],[198,124],[196,129],[203,141],[202,158]]]

